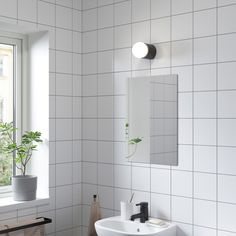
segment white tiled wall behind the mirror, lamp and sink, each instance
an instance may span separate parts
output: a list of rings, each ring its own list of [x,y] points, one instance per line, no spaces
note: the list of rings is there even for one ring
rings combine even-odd
[[[235,236],[236,1],[84,0],[82,7],[83,235],[92,194],[109,216],[135,192],[152,216],[176,222],[179,236]],[[157,57],[133,58],[137,41],[155,44]],[[130,164],[125,80],[170,73],[179,75],[179,165]]]

